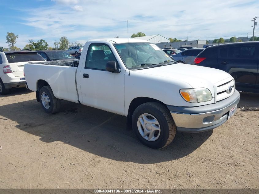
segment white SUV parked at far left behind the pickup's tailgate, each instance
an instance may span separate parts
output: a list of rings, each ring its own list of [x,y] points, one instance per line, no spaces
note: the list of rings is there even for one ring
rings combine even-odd
[[[45,60],[35,51],[0,52],[0,95],[9,93],[11,88],[25,87],[24,64],[35,61]]]

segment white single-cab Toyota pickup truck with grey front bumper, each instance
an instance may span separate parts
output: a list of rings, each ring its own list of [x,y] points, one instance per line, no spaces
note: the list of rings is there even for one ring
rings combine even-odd
[[[141,143],[162,148],[176,131],[220,126],[239,102],[230,74],[170,60],[145,40],[101,39],[86,42],[78,67],[29,63],[24,72],[47,113],[63,99],[127,116]]]

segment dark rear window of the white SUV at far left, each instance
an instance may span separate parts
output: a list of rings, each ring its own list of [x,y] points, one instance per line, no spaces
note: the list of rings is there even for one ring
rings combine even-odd
[[[36,52],[6,53],[6,58],[9,63],[18,63],[25,61],[45,61],[43,57]]]

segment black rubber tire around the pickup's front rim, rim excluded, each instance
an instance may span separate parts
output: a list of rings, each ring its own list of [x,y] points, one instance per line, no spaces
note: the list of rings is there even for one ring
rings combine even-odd
[[[158,139],[154,141],[148,141],[142,137],[138,130],[138,119],[142,114],[153,115],[159,123],[160,126],[160,135]],[[145,146],[148,146],[153,149],[160,149],[167,146],[173,141],[173,138],[176,134],[176,126],[173,122],[173,118],[170,115],[169,110],[157,103],[157,102],[147,102],[142,105],[139,105],[132,115],[132,128],[141,143]]]

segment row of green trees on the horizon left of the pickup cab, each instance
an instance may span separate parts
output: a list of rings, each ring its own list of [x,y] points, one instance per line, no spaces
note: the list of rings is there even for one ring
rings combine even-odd
[[[16,39],[18,37],[19,36],[14,34],[13,32],[7,32],[6,43],[8,44],[9,48],[0,47],[0,50],[3,50],[3,51],[21,50],[21,48],[18,48],[14,45],[17,42]],[[55,40],[54,47],[49,47],[46,40],[43,40],[43,39],[40,39],[37,41],[29,39],[28,41],[29,41],[28,44],[26,44],[23,49],[29,49],[32,51],[35,51],[35,50],[67,50],[68,48],[73,47],[73,46],[82,46],[83,45],[82,43],[79,43],[79,42],[70,42],[66,36],[60,37],[59,41]]]

